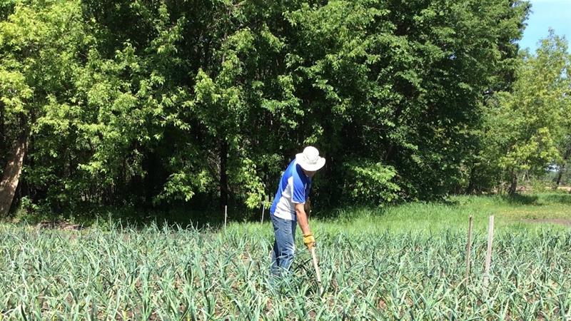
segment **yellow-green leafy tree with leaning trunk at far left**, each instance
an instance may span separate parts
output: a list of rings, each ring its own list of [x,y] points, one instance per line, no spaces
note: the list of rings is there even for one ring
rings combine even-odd
[[[0,203],[7,205],[0,215],[14,198],[36,121],[71,98],[86,46],[79,1],[14,1],[6,12],[0,21],[0,101],[4,138],[14,147],[0,183]]]

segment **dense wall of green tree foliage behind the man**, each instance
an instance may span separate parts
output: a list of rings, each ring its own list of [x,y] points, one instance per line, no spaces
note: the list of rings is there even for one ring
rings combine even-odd
[[[504,0],[11,3],[0,8],[0,149],[30,128],[21,195],[55,210],[256,208],[308,144],[327,158],[313,185],[322,206],[458,190],[482,95],[510,90],[529,9]]]

